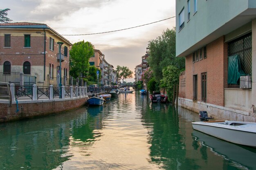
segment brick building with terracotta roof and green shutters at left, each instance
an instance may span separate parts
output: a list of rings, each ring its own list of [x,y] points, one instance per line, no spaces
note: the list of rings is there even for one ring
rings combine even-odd
[[[24,72],[36,77],[38,86],[57,85],[61,46],[61,75],[69,77],[72,44],[46,24],[15,22],[0,24],[0,72]]]

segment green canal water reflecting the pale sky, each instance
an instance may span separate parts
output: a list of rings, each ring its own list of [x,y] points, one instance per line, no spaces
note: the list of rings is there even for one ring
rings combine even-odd
[[[198,114],[138,91],[0,124],[0,170],[253,170],[256,149],[194,131]]]

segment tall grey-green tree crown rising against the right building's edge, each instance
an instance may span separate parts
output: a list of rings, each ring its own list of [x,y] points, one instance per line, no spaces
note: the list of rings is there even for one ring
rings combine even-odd
[[[176,57],[175,36],[175,28],[171,30],[166,29],[156,40],[149,41],[148,48],[150,49],[150,55],[147,60],[156,82],[162,79],[162,69],[166,66],[173,65],[178,69],[185,68],[185,59],[183,57]]]

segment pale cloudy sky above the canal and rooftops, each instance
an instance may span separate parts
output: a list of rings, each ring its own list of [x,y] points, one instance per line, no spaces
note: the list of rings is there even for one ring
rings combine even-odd
[[[11,9],[12,22],[44,23],[71,43],[89,41],[115,68],[127,66],[134,72],[146,53],[148,41],[175,26],[175,0],[0,0],[0,9]],[[67,36],[68,34],[100,33]],[[133,82],[134,79],[126,79]]]

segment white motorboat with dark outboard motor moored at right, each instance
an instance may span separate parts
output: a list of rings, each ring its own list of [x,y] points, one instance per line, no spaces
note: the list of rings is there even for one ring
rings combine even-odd
[[[256,123],[246,121],[217,120],[208,117],[207,111],[200,111],[200,120],[192,122],[194,130],[229,141],[231,143],[256,147]]]

